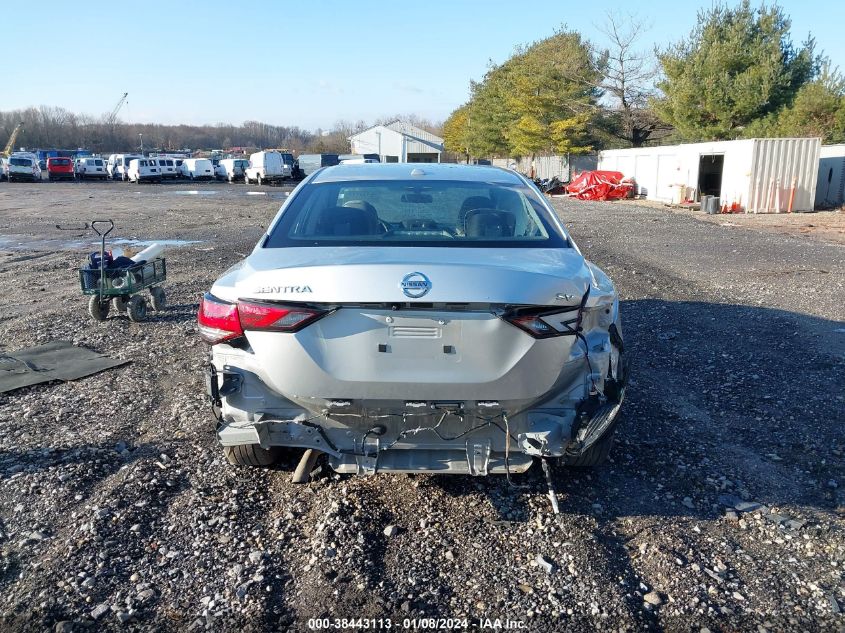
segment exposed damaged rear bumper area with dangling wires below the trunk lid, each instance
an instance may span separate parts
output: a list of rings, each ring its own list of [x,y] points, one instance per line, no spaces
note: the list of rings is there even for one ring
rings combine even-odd
[[[621,359],[620,359],[621,360]],[[327,401],[321,413],[270,394],[240,368],[206,370],[224,446],[258,444],[316,449],[340,473],[446,473],[482,476],[528,470],[535,457],[573,458],[611,432],[624,399],[627,366],[607,395],[570,409],[514,415],[496,402],[368,403]]]

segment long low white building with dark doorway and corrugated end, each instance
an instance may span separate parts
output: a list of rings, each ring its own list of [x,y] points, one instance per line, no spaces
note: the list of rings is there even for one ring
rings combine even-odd
[[[821,140],[755,138],[599,152],[599,169],[633,178],[651,200],[717,196],[749,212],[812,211]]]

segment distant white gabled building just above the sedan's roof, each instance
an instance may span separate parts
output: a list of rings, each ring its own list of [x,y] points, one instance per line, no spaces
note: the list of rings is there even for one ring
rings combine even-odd
[[[394,121],[349,137],[353,154],[377,154],[383,163],[439,163],[443,139],[420,128]]]

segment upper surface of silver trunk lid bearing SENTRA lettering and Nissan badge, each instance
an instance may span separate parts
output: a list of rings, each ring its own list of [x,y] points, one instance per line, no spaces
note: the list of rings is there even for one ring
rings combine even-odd
[[[230,301],[553,306],[577,303],[591,279],[573,248],[260,248],[212,292]]]

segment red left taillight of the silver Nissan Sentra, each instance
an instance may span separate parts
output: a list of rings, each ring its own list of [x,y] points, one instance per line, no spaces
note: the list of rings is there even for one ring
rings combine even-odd
[[[246,330],[298,332],[326,314],[326,310],[274,303],[229,303],[206,293],[200,302],[197,322],[200,337],[215,345],[241,337]]]

